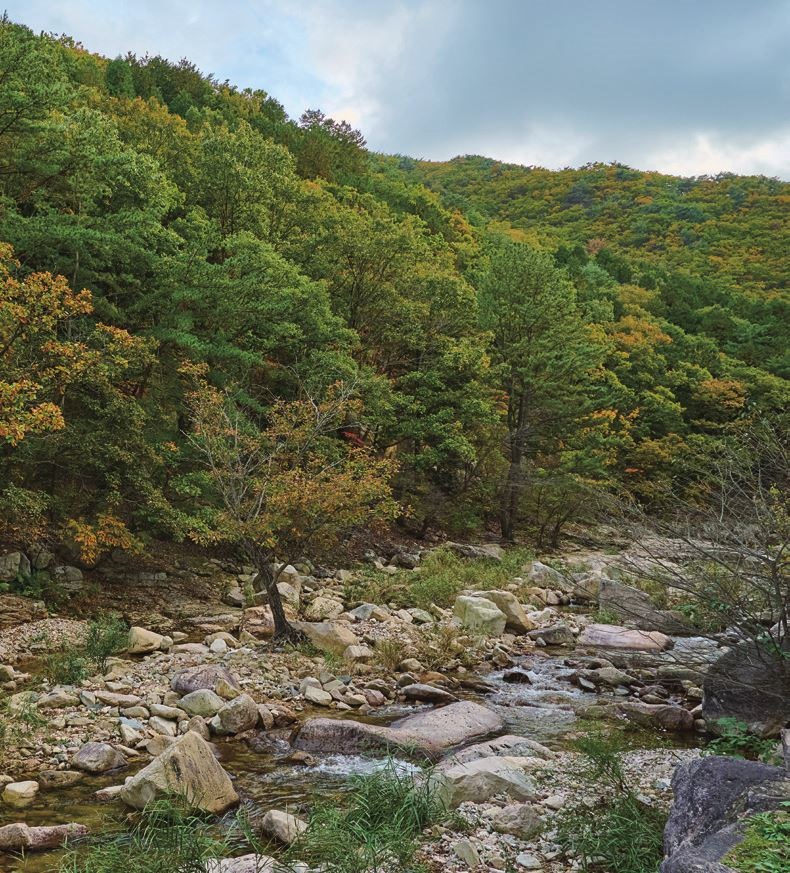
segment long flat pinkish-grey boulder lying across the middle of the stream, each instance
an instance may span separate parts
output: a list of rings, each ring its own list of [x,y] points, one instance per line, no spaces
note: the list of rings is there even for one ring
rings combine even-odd
[[[441,709],[420,712],[389,727],[337,718],[313,718],[294,736],[305,752],[386,752],[397,749],[437,759],[449,749],[502,729],[502,719],[490,709],[463,700]]]

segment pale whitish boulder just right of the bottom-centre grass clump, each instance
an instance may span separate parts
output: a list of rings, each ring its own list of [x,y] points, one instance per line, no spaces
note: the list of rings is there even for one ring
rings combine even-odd
[[[439,767],[431,779],[450,807],[482,803],[504,794],[513,800],[534,800],[534,781],[518,766],[518,758],[477,758],[466,764]]]

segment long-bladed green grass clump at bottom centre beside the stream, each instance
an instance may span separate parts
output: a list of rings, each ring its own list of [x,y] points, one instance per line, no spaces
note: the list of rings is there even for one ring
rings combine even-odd
[[[351,780],[342,805],[317,803],[288,857],[334,873],[416,873],[417,840],[447,811],[425,774],[400,773],[393,762]]]

